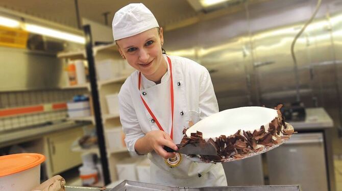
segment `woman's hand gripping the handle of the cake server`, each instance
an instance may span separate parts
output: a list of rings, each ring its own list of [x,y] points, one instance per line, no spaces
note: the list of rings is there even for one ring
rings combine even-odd
[[[145,138],[149,144],[149,146],[161,157],[167,159],[174,157],[176,153],[168,153],[163,149],[164,146],[167,146],[175,151],[178,150],[178,147],[172,141],[170,135],[165,133],[164,131],[156,130],[150,131],[145,134]]]

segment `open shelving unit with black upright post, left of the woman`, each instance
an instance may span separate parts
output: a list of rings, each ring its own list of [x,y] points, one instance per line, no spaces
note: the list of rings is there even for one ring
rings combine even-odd
[[[101,157],[105,185],[117,180],[115,164],[126,157],[129,157],[127,148],[110,149],[106,138],[106,130],[119,128],[119,112],[109,113],[106,95],[118,93],[121,85],[128,75],[121,75],[113,79],[98,81],[96,78],[96,63],[106,59],[121,60],[115,43],[94,46],[92,43],[90,26],[84,26],[86,37],[85,50],[75,52],[59,53],[57,56],[66,60],[86,59],[88,61],[90,83],[63,88],[87,88],[92,95],[93,114],[89,117],[70,118],[76,121],[91,121],[96,128],[99,152]],[[91,150],[95,152],[94,149]],[[90,152],[78,149],[75,152]],[[95,152],[96,153],[96,152]]]

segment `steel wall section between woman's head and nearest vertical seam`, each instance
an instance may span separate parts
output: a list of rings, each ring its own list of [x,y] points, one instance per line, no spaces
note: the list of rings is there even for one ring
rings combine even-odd
[[[184,56],[207,67],[220,103],[219,108],[223,110],[232,106],[229,103],[238,103],[234,106],[251,104],[247,68],[251,62],[251,50],[249,38],[242,36],[247,34],[246,13],[239,12],[216,18],[214,22],[203,21],[167,32],[165,39],[172,38],[173,42],[166,43],[165,47],[170,55]],[[228,103],[227,100],[231,101]]]

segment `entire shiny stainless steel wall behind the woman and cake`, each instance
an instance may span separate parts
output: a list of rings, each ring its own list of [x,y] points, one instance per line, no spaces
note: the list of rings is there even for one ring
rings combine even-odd
[[[208,68],[220,110],[293,103],[297,92],[290,46],[316,3],[272,0],[250,6],[246,1],[243,13],[166,32],[172,42],[165,47]],[[324,107],[337,125],[342,118],[341,34],[342,1],[324,0],[295,46],[301,101],[306,107]],[[336,131],[334,141],[342,153]]]

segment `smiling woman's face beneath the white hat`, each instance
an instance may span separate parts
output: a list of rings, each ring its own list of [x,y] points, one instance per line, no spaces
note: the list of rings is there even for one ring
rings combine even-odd
[[[137,35],[117,40],[119,52],[125,56],[127,62],[148,79],[157,77],[161,73],[162,63],[165,62],[161,44],[163,44],[163,31],[153,28]],[[153,79],[152,78],[152,79]]]

